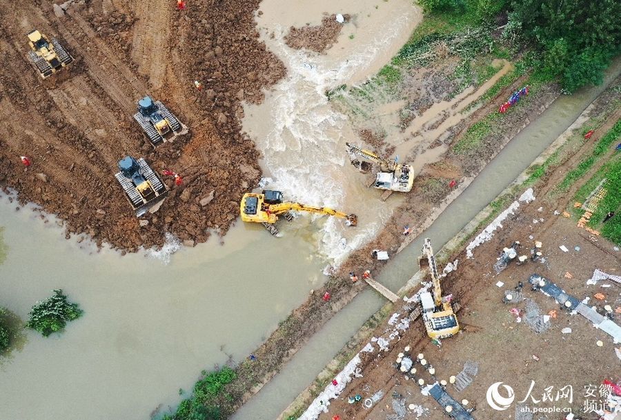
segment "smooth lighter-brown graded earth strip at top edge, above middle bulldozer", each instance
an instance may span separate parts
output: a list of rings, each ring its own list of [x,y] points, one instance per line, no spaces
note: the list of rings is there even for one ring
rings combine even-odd
[[[153,90],[164,86],[170,61],[170,10],[171,3],[168,0],[134,3],[134,14],[138,21],[134,25],[131,56],[138,64],[138,71],[149,78]]]

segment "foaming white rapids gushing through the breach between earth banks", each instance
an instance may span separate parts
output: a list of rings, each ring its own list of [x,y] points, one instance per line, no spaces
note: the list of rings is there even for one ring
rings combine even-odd
[[[342,219],[329,218],[314,235],[319,252],[335,265],[377,234],[391,208],[380,201],[382,192],[366,188],[364,177],[349,164],[345,142],[359,139],[346,117],[330,106],[326,90],[364,73],[394,43],[393,38],[403,30],[409,32],[412,19],[411,14],[402,14],[391,22],[389,33],[376,28],[375,33],[363,32],[356,42],[340,41],[351,43],[339,56],[288,48],[283,40],[286,26],[269,26],[273,38],[264,33],[288,74],[268,92],[264,104],[246,108],[246,115],[253,116],[244,123],[264,153],[264,167],[273,178],[270,188],[282,190],[286,199],[358,215],[355,230]],[[317,223],[317,217],[313,219]]]

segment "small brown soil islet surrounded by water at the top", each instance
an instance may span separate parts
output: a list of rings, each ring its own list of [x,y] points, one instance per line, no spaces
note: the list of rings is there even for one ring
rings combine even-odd
[[[351,17],[349,14],[344,14],[345,23],[348,22]],[[336,42],[343,23],[339,23],[336,14],[325,16],[322,19],[322,24],[318,26],[303,26],[302,28],[289,28],[289,33],[285,36],[285,42],[291,48],[295,50],[311,50],[315,52],[324,52],[331,48]]]

